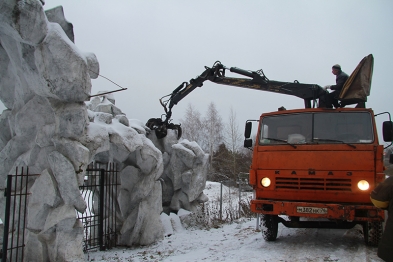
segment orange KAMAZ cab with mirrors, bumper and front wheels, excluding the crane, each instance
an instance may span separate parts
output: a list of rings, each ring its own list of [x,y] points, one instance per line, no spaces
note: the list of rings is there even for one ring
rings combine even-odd
[[[245,146],[250,146],[249,124]],[[385,179],[383,151],[371,109],[262,114],[249,181],[255,192],[251,211],[262,215],[265,240],[277,238],[280,222],[296,228],[361,224],[366,243],[376,245],[384,212],[373,206],[370,193]]]

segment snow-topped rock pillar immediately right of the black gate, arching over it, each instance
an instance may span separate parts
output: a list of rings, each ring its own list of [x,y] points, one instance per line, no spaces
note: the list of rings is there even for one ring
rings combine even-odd
[[[90,123],[82,140],[92,152],[90,160],[118,163],[120,171],[118,244],[146,245],[162,238],[162,154],[146,137],[148,128],[127,119],[112,95],[95,97],[87,108]]]

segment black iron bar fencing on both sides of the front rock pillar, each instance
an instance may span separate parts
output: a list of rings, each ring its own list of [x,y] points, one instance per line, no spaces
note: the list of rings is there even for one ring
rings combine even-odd
[[[5,215],[1,261],[24,261],[26,215],[29,181],[39,174],[29,174],[27,168],[16,168],[7,176]],[[87,203],[84,213],[76,212],[84,226],[83,250],[106,250],[116,246],[116,212],[118,170],[114,163],[88,166],[84,183],[79,187]]]

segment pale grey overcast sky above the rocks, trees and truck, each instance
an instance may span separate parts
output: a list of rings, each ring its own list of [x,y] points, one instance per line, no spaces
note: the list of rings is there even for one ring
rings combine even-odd
[[[367,107],[393,113],[391,0],[46,0],[44,9],[59,5],[76,46],[96,54],[100,74],[128,88],[114,94],[128,118],[159,117],[159,98],[217,60],[263,69],[270,80],[324,86],[335,83],[333,64],[351,74],[368,54],[374,74]],[[92,85],[92,94],[118,89],[103,78]],[[232,106],[242,125],[280,106],[303,107],[293,96],[205,82],[173,108],[174,122],[189,103],[204,114],[210,102],[224,121]]]

